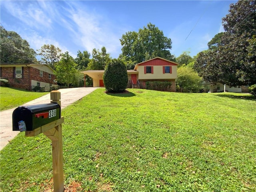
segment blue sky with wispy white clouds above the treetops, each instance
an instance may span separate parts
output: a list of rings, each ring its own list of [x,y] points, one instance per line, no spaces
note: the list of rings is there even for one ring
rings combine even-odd
[[[93,48],[105,46],[112,58],[122,52],[123,34],[138,32],[151,22],[171,38],[172,54],[178,57],[190,51],[190,56],[195,56],[224,31],[222,18],[228,14],[230,4],[236,2],[1,0],[0,21],[34,50],[53,44],[76,57],[78,50],[91,53]]]

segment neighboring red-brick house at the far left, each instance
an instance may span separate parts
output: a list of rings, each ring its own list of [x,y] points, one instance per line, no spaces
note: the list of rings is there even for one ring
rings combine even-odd
[[[1,64],[1,78],[9,81],[11,87],[32,90],[35,86],[50,90],[56,76],[46,64]]]

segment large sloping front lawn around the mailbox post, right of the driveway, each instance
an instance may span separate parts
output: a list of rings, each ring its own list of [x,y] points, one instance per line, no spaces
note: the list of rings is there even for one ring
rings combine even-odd
[[[256,100],[247,94],[97,89],[62,110],[64,184],[84,192],[256,191]],[[49,191],[51,142],[1,151],[1,190]]]

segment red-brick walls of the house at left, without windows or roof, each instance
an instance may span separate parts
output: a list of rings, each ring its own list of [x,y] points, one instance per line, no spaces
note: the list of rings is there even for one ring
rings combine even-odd
[[[40,70],[33,68],[31,66],[22,67],[22,78],[15,77],[16,66],[14,67],[2,67],[1,66],[1,78],[9,81],[11,87],[22,88],[25,90],[31,90],[31,80],[38,82],[46,82],[49,84],[54,84],[53,80],[56,78],[55,75],[51,75],[49,79],[49,73],[43,71],[43,76],[40,77]]]

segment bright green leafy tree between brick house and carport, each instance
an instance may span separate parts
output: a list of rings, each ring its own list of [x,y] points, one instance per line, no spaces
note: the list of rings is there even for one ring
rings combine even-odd
[[[67,86],[76,84],[76,81],[78,80],[77,74],[80,73],[76,67],[77,64],[75,63],[74,58],[72,58],[68,52],[62,54],[61,60],[58,65],[56,65],[56,70],[54,71],[58,83],[64,83]]]

